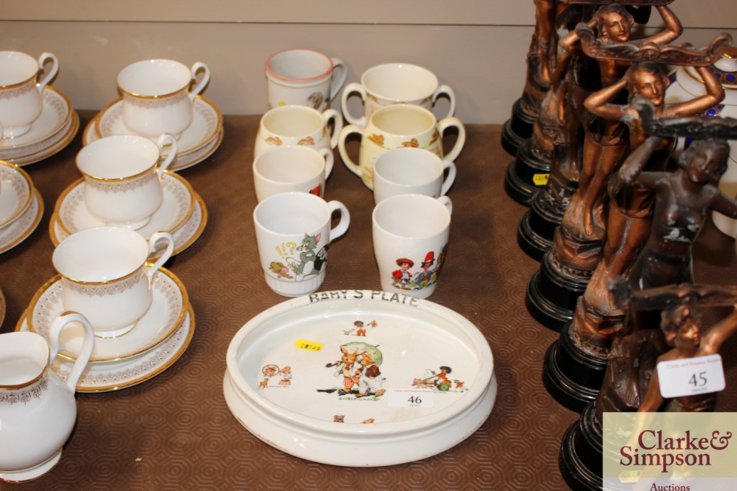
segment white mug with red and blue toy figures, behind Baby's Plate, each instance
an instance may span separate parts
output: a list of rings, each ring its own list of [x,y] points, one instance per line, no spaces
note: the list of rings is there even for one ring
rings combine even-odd
[[[371,215],[381,289],[426,299],[445,262],[453,203],[447,196],[395,195]]]

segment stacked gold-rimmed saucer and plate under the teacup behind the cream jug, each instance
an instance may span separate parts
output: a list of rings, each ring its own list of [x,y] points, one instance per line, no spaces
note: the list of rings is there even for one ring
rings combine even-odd
[[[195,316],[182,282],[165,268],[153,276],[153,301],[136,326],[117,338],[95,338],[90,362],[77,383],[79,392],[115,391],[134,386],[164,372],[184,353],[195,332]],[[60,313],[60,276],[43,285],[31,300],[16,331],[49,337]],[[62,332],[52,369],[66,380],[83,341],[83,329],[69,324]]]

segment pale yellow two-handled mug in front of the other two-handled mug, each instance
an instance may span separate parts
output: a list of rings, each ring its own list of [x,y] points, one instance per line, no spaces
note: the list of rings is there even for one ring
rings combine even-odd
[[[394,104],[376,111],[368,119],[366,128],[348,125],[338,136],[338,150],[343,164],[359,175],[368,189],[374,189],[374,160],[392,148],[415,147],[430,150],[443,158],[443,134],[447,128],[458,130],[458,139],[445,159],[453,161],[461,153],[466,142],[466,128],[455,116],[435,119],[433,113],[417,105]],[[352,134],[361,135],[358,163],[346,151],[346,139]]]

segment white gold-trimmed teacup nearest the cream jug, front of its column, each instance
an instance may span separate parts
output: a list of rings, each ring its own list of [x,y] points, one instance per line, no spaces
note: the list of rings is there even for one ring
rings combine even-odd
[[[147,259],[159,240],[164,254]],[[94,334],[114,338],[135,327],[153,299],[151,282],[174,250],[169,232],[156,232],[146,241],[136,231],[116,226],[85,229],[71,234],[54,250],[52,261],[61,275],[65,310],[85,316]]]

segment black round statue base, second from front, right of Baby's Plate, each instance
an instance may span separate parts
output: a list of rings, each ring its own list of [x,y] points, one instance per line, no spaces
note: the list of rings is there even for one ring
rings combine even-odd
[[[559,340],[545,352],[542,382],[553,399],[571,411],[581,412],[598,396],[607,358],[581,349],[573,338],[572,326],[572,322],[565,324]]]

